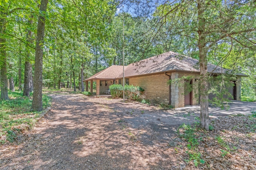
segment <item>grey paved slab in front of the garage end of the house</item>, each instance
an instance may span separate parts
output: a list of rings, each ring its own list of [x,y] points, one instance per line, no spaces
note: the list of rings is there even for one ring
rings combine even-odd
[[[252,110],[256,110],[256,102],[233,101],[229,106],[230,108],[228,110],[210,106],[210,119],[234,114],[246,115],[251,114]],[[177,132],[178,127],[183,123],[191,125],[195,121],[199,121],[196,117],[200,117],[200,106],[188,106],[174,110],[154,111],[138,115],[133,119],[125,119],[125,121],[135,129],[152,129],[157,138],[164,142],[166,140],[170,140],[173,134]],[[144,142],[150,143],[150,141],[145,141],[145,139]]]

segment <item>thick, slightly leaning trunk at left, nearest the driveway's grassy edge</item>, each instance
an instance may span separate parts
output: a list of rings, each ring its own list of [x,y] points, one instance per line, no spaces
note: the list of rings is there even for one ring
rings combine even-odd
[[[45,15],[48,0],[41,0],[40,16],[38,17],[37,35],[36,35],[36,55],[35,55],[35,74],[34,74],[34,93],[32,101],[32,110],[42,111],[42,72],[43,72],[43,44],[44,44],[44,29]],[[42,12],[42,13],[41,13]]]

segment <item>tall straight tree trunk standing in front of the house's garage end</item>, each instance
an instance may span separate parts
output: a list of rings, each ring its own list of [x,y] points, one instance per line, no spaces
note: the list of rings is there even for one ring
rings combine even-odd
[[[200,127],[209,131],[209,102],[208,102],[208,74],[207,48],[204,18],[204,0],[198,0],[198,49],[200,65]]]

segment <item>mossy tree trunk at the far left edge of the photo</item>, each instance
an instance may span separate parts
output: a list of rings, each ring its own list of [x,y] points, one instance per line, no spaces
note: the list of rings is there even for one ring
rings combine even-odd
[[[1,34],[5,35],[6,32],[6,15],[2,14],[3,9],[1,9],[1,19],[0,27]],[[0,37],[0,70],[1,70],[1,100],[9,100],[8,97],[8,82],[7,82],[7,64],[6,64],[6,39]]]

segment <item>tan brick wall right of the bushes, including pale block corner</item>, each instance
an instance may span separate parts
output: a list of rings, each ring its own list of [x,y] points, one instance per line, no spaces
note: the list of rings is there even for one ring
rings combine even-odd
[[[190,73],[169,73],[172,79],[182,76],[197,76]],[[130,78],[130,84],[142,87],[146,92],[146,98],[152,103],[169,103],[169,86],[167,84],[169,77],[164,73],[148,76],[139,76]],[[192,79],[192,105],[198,104],[198,80]],[[184,107],[184,85],[172,83],[171,85],[171,105],[175,108]]]

